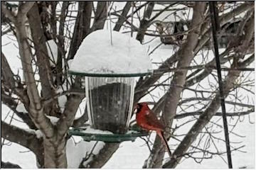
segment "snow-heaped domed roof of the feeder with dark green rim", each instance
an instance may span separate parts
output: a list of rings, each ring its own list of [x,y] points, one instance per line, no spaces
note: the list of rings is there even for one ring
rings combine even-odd
[[[134,77],[151,73],[146,48],[128,35],[97,30],[80,45],[69,73],[85,76]]]

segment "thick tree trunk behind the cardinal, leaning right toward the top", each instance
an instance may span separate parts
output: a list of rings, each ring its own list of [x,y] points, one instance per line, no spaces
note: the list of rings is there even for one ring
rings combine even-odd
[[[177,67],[188,67],[193,60],[193,49],[198,43],[198,36],[201,29],[201,24],[204,20],[204,11],[206,9],[206,2],[196,2],[193,6],[193,18],[191,24],[191,31],[188,33],[186,42],[181,46],[178,52]],[[164,101],[164,109],[162,119],[165,120],[166,126],[171,127],[174,116],[176,115],[176,108],[181,96],[181,91],[186,82],[186,73],[188,70],[183,69],[174,73],[174,78],[171,81],[169,91],[166,93]],[[170,135],[166,135],[167,138]],[[161,160],[164,157],[164,145],[161,139],[156,136],[154,147],[146,163],[146,168],[159,168],[161,167]]]

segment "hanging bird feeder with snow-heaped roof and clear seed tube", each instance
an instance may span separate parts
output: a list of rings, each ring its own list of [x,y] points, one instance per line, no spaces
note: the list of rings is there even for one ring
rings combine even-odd
[[[110,34],[109,30],[97,30],[82,41],[68,73],[85,77],[90,128],[113,134],[101,134],[100,138],[107,135],[112,139],[119,136],[118,141],[130,140],[135,78],[151,74],[151,62],[144,46],[117,31]],[[82,135],[81,130],[74,134]],[[95,140],[100,134],[90,135]]]

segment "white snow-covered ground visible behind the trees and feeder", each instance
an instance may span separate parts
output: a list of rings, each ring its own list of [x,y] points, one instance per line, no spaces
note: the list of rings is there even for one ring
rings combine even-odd
[[[124,6],[122,3],[120,6]],[[119,6],[119,7],[120,7]],[[135,23],[135,25],[137,25]],[[138,26],[138,25],[137,25]],[[134,36],[135,37],[135,36]],[[6,54],[7,60],[9,61],[9,64],[11,66],[11,69],[13,69],[15,74],[19,74],[22,78],[22,70],[21,70],[21,61],[18,59],[18,49],[17,49],[17,43],[14,40],[11,40],[11,38],[14,38],[13,36],[2,36],[2,51],[4,54]],[[151,40],[151,38],[147,37],[146,41]],[[156,45],[159,45],[159,40],[153,40],[151,43],[146,44],[146,49],[149,49],[149,53],[156,47]],[[15,44],[15,45],[14,45]],[[155,50],[154,53],[150,55],[151,62],[162,62],[167,57],[170,57],[171,54],[177,49],[170,47],[169,45],[162,45],[159,47],[158,50]],[[197,62],[201,62],[201,58],[196,58]],[[252,64],[254,67],[254,64]],[[157,64],[153,65],[153,69],[157,68]],[[18,72],[19,70],[19,72]],[[254,75],[252,75],[254,78]],[[163,78],[164,79],[164,78]],[[154,94],[156,96],[163,95],[164,91],[154,91]],[[186,91],[186,93],[183,93],[183,98],[189,98],[192,94],[190,94],[189,91]],[[245,94],[246,95],[246,94]],[[254,97],[254,96],[253,96]],[[63,103],[62,101],[65,101],[66,98],[59,98],[60,103]],[[227,98],[228,100],[232,100],[232,98]],[[143,98],[144,101],[149,101],[151,98],[149,96],[146,96],[146,98]],[[83,102],[85,103],[85,102]],[[64,106],[62,106],[64,107]],[[23,106],[18,106],[18,109],[23,111]],[[84,110],[85,106],[81,106],[81,110]],[[229,111],[230,106],[227,106],[227,110]],[[6,118],[7,113],[9,113],[9,108],[1,104],[1,120],[4,120]],[[9,115],[6,118],[6,122],[9,123],[11,119],[11,115],[13,113],[9,113]],[[80,113],[77,114],[77,116]],[[17,120],[15,120],[17,119]],[[54,118],[50,118],[53,122],[57,121]],[[222,125],[222,120],[220,117],[213,118],[215,120],[219,120],[220,125]],[[241,145],[245,145],[245,147],[242,147],[242,152],[235,151],[232,153],[233,158],[233,167],[235,169],[238,168],[247,168],[247,169],[255,169],[255,113],[252,113],[250,115],[241,116],[241,120],[238,121],[238,124],[236,125],[233,132],[236,134],[242,136],[238,137],[238,135],[230,134],[230,141],[231,142],[242,142],[240,144],[235,144],[236,147],[239,147]],[[185,119],[181,119],[178,121],[174,121],[174,125],[178,125],[178,123],[182,123],[185,121]],[[231,119],[228,118],[228,121],[230,124],[234,124],[235,121],[238,120],[237,118]],[[251,123],[252,122],[252,123]],[[16,125],[20,128],[28,128],[24,123],[21,123],[18,121],[18,117],[14,115],[14,120],[12,120],[12,125]],[[184,128],[179,129],[179,133],[184,134],[189,130],[189,126],[193,125],[193,123],[188,124],[188,126]],[[232,127],[230,126],[229,129]],[[151,140],[154,140],[155,133],[151,135]],[[223,132],[218,134],[218,137],[224,137]],[[1,138],[1,141],[3,138]],[[196,140],[198,142],[198,140]],[[170,140],[169,145],[173,146],[176,145],[175,140]],[[85,157],[86,152],[90,152],[93,145],[95,145],[95,142],[84,142],[80,137],[75,137],[75,143],[73,139],[68,140],[67,143],[67,157],[68,157],[68,168],[78,168],[78,165],[80,164],[81,158]],[[98,142],[98,147],[94,151],[96,154],[98,152],[98,149],[100,149],[104,144],[103,142]],[[217,145],[218,149],[220,151],[225,151],[225,143],[222,141],[218,141],[215,143]],[[171,147],[171,149],[174,149]],[[210,149],[213,149],[212,147]],[[103,166],[104,169],[141,169],[144,160],[149,156],[149,149],[146,146],[144,140],[137,138],[134,142],[122,142],[120,145],[120,148],[117,149],[117,152],[115,152],[112,156],[112,158]],[[167,158],[167,154],[166,157]],[[226,159],[226,156],[223,155],[223,158]],[[10,143],[9,145],[4,145],[4,147],[1,148],[1,160],[4,162],[12,162],[14,164],[20,165],[22,168],[25,169],[36,169],[36,157],[35,155],[30,152],[28,149],[22,147],[21,145],[18,145],[16,143]],[[223,159],[221,159],[218,156],[213,156],[211,159],[205,159],[201,164],[197,164],[193,159],[183,159],[181,161],[181,164],[178,164],[178,169],[227,169],[228,165],[223,162]]]

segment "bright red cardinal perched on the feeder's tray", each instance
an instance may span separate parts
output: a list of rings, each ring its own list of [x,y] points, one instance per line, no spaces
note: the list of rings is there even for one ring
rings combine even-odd
[[[164,125],[160,120],[156,118],[153,111],[150,110],[147,103],[137,103],[136,120],[137,124],[144,130],[155,130],[156,134],[161,137],[168,151],[169,157],[171,157],[171,150],[168,146],[166,139],[164,138]]]

